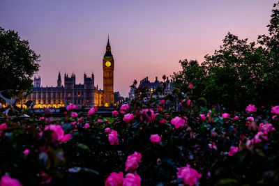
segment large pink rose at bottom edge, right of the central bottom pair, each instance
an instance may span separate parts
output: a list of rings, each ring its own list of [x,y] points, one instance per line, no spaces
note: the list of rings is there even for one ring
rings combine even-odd
[[[190,165],[177,168],[179,171],[177,173],[177,178],[183,178],[184,184],[190,186],[195,185],[199,182],[199,178],[202,177],[202,174],[198,173],[195,169],[190,168]]]

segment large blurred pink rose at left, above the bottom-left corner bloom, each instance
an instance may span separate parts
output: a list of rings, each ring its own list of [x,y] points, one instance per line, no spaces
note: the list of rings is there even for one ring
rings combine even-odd
[[[52,142],[68,141],[70,139],[70,137],[72,136],[71,134],[64,135],[64,131],[63,131],[61,125],[47,125],[45,127],[45,130],[52,130]]]

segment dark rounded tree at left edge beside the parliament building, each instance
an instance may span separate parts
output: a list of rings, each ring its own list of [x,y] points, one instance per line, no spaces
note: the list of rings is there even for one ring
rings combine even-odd
[[[39,57],[17,32],[0,27],[0,90],[31,90]]]

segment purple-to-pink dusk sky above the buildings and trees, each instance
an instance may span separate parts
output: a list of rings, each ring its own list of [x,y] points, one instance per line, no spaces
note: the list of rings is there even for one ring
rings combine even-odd
[[[133,79],[172,75],[179,60],[204,60],[228,31],[257,40],[266,34],[277,0],[0,0],[0,26],[19,32],[40,54],[43,86],[56,86],[59,70],[95,75],[103,88],[102,60],[110,34],[114,91],[127,96]]]

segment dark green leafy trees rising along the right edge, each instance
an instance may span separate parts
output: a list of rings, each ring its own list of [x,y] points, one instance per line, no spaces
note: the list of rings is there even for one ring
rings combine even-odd
[[[202,64],[179,61],[182,70],[174,73],[174,86],[187,90],[194,84],[195,95],[209,105],[241,111],[250,102],[261,105],[279,103],[279,3],[274,4],[269,36],[248,43],[228,33],[223,45]]]

